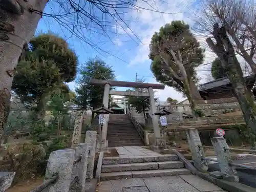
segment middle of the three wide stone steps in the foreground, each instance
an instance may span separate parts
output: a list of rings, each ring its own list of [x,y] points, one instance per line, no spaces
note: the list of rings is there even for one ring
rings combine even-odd
[[[181,161],[109,164],[109,165],[102,165],[101,173],[127,172],[132,170],[172,169],[172,168],[184,168],[184,164]]]

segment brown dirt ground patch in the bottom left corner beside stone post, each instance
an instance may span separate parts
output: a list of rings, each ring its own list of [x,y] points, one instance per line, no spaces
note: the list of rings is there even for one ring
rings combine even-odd
[[[42,184],[42,182],[44,182],[44,178],[37,177],[28,181],[19,182],[15,186],[7,189],[6,192],[30,192],[32,189]]]

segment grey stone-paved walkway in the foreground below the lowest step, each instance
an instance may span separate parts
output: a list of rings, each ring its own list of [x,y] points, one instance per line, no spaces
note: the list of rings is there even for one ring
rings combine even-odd
[[[224,192],[194,175],[103,181],[99,192]]]

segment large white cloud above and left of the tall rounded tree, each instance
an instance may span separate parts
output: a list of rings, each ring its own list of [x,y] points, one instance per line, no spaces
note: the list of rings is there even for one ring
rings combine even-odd
[[[138,48],[137,55],[130,60],[129,66],[140,65],[148,60],[148,53],[151,37],[159,31],[160,27],[166,23],[172,22],[172,20],[184,20],[190,24],[191,20],[186,17],[185,9],[189,7],[194,0],[174,0],[172,3],[162,3],[162,1],[154,1],[152,5],[148,5],[148,2],[139,2],[138,6],[148,9],[158,9],[161,12],[173,12],[178,14],[163,14],[159,12],[153,12],[146,9],[140,11],[133,11],[132,17],[139,20],[139,24],[131,25],[131,29],[135,34],[138,34],[141,39],[141,44]],[[151,7],[152,6],[152,7]]]

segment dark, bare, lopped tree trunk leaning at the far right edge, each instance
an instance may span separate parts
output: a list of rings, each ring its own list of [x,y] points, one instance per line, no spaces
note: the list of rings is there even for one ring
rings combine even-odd
[[[227,69],[227,76],[232,84],[234,96],[238,99],[243,112],[250,143],[254,146],[256,139],[256,105],[252,93],[246,87],[240,63],[234,54],[234,49],[225,28],[219,28],[216,24],[213,34],[217,42],[216,45],[210,38],[206,39],[207,44],[220,58],[222,67]]]

